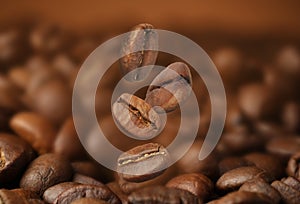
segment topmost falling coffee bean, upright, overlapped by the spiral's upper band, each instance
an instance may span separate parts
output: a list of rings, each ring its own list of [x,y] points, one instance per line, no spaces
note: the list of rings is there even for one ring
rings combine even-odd
[[[135,26],[123,44],[120,59],[121,70],[128,81],[145,79],[149,71],[137,69],[142,66],[154,65],[157,58],[158,36],[153,26],[147,23]],[[137,51],[135,51],[137,50]]]

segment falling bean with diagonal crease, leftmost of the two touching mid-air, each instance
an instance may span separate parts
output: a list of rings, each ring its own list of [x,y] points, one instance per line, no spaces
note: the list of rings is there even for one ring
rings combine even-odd
[[[162,128],[158,114],[134,95],[122,94],[113,104],[112,114],[123,131],[140,139],[156,136]]]

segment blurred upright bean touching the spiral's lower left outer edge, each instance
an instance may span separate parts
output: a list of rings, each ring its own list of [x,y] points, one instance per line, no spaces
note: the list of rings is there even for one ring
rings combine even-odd
[[[78,138],[73,118],[67,118],[58,131],[53,152],[63,155],[70,161],[86,158],[86,152]]]

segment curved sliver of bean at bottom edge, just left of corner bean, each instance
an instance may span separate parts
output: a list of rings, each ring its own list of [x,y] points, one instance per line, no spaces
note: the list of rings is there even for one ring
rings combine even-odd
[[[281,200],[281,196],[278,191],[261,178],[255,178],[253,180],[247,181],[240,187],[239,191],[264,194],[269,197],[273,203],[279,203]]]

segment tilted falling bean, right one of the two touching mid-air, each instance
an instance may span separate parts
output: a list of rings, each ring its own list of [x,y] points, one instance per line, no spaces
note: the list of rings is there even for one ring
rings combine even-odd
[[[145,101],[152,107],[159,106],[166,112],[175,110],[191,93],[192,75],[182,62],[170,64],[151,82]]]

